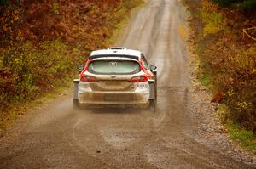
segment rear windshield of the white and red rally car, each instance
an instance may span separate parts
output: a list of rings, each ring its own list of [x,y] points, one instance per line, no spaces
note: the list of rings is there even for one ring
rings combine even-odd
[[[95,74],[129,75],[140,71],[140,65],[131,60],[96,60],[90,63],[88,71]]]

